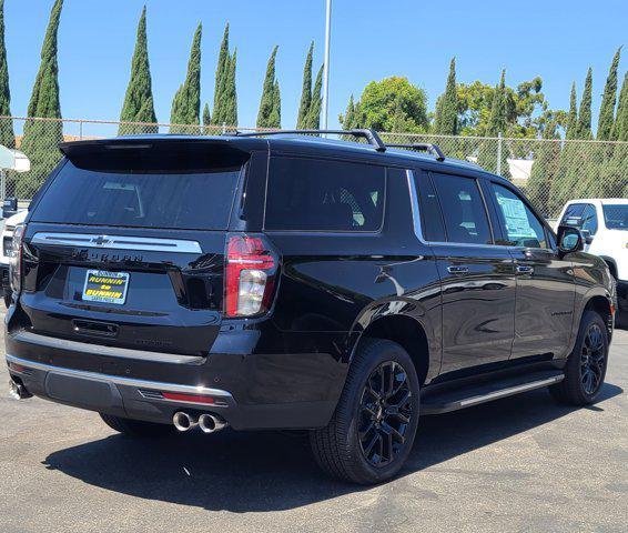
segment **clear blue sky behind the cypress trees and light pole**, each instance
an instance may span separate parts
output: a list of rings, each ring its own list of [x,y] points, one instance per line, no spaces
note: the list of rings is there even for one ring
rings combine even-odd
[[[13,115],[26,114],[52,3],[4,2]],[[325,0],[65,0],[59,33],[64,118],[118,120],[144,3],[159,121],[170,119],[200,21],[202,102],[211,104],[220,41],[229,21],[231,44],[237,47],[240,125],[255,125],[275,44],[282,125],[295,125],[311,40],[316,68],[323,62]],[[330,127],[340,125],[337,117],[352,93],[357,98],[369,81],[389,76],[407,77],[423,88],[433,110],[454,56],[463,82],[495,84],[502,69],[510,86],[540,76],[553,109],[568,108],[573,81],[580,95],[590,66],[597,115],[612,54],[628,44],[628,0],[601,3],[604,9],[585,0],[333,0]],[[628,47],[620,80],[627,68]]]

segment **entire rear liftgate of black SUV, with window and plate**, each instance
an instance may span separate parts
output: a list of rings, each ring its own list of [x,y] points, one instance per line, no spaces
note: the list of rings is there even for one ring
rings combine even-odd
[[[222,320],[225,234],[250,154],[188,140],[63,150],[30,214],[18,326],[206,354]]]

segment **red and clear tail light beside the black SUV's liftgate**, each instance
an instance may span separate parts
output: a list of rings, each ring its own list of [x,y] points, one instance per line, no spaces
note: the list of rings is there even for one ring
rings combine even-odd
[[[275,257],[262,238],[227,237],[224,293],[226,316],[254,316],[269,311],[275,272]]]

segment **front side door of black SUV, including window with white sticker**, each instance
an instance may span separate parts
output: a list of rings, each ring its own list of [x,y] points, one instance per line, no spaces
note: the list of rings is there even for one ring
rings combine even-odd
[[[563,355],[574,320],[571,262],[560,258],[549,229],[515,189],[490,182],[487,191],[516,265],[513,358]]]

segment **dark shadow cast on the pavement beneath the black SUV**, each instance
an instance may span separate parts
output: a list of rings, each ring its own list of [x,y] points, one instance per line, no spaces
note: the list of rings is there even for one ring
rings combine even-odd
[[[606,384],[600,401],[622,393]],[[546,391],[439,416],[425,416],[401,476],[560,419],[574,408],[556,405]],[[97,423],[97,420],[94,420]],[[318,471],[303,435],[282,432],[214,435],[200,432],[160,440],[122,435],[51,453],[50,470],[91,485],[212,511],[283,511],[364,490]]]

